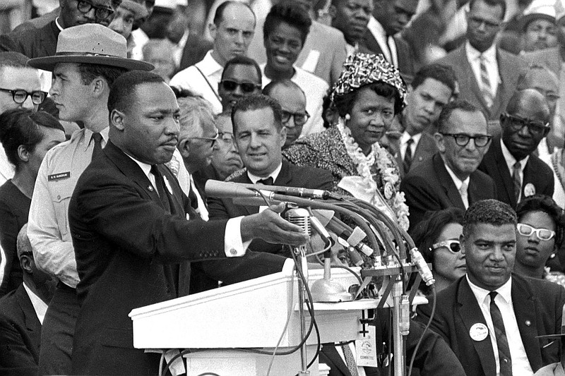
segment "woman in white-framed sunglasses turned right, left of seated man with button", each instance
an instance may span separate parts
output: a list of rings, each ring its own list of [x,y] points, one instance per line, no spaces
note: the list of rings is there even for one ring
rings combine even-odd
[[[463,233],[463,214],[465,212],[457,207],[439,210],[420,222],[411,234],[424,260],[432,264],[437,292],[467,272],[465,255],[461,253],[459,243],[459,236]],[[427,293],[424,287],[427,286],[420,285],[420,289]]]

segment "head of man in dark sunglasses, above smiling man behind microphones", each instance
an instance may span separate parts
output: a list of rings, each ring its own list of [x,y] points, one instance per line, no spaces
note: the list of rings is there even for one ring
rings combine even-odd
[[[225,63],[218,94],[222,99],[222,111],[230,111],[244,95],[261,92],[261,68],[254,59],[235,56]]]

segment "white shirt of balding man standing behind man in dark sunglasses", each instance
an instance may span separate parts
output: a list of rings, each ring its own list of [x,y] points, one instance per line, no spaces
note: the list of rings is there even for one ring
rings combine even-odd
[[[218,85],[222,80],[223,71],[224,67],[218,61],[215,61],[210,49],[204,59],[174,75],[169,85],[189,89],[202,95],[212,104],[214,114],[220,114],[222,102],[220,95],[218,95]]]

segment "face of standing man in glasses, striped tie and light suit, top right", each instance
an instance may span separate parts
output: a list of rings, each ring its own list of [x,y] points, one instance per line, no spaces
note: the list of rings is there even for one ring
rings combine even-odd
[[[478,0],[467,13],[467,39],[472,47],[483,52],[489,49],[502,27],[502,7]]]

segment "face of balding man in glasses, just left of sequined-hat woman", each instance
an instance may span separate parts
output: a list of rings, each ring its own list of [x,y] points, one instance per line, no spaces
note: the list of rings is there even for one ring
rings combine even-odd
[[[280,107],[283,108],[283,112],[290,114],[290,117],[283,126],[287,129],[287,140],[284,147],[289,147],[292,145],[302,133],[302,127],[304,124],[295,123],[295,114],[298,116],[307,114],[306,111],[306,97],[302,90],[298,87],[286,87],[283,85],[278,85],[275,90],[270,93],[270,97],[279,102]]]

